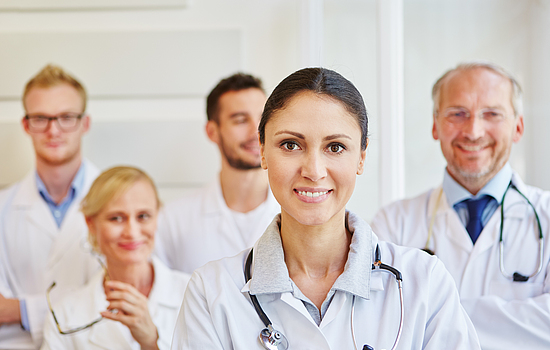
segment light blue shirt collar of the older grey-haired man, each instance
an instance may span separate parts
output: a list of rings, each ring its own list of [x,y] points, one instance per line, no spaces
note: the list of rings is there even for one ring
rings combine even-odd
[[[495,198],[499,203],[502,200],[506,188],[512,179],[512,167],[509,163],[506,163],[502,169],[477,193],[473,196],[467,189],[462,187],[445,169],[443,176],[443,191],[449,201],[449,205],[452,207],[466,199],[480,198],[481,196],[488,195]]]

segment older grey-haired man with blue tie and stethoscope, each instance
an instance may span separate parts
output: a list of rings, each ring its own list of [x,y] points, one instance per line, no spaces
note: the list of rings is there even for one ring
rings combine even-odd
[[[508,163],[524,130],[521,94],[494,64],[445,73],[432,91],[443,184],[386,206],[372,223],[380,239],[445,263],[484,350],[550,348],[550,192]]]

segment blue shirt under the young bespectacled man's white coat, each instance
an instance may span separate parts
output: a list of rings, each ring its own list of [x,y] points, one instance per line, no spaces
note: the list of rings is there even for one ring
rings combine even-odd
[[[84,162],[82,162],[82,165],[80,165],[80,168],[71,182],[71,187],[69,188],[67,195],[59,204],[56,204],[53,201],[52,197],[48,193],[48,190],[46,189],[46,185],[44,185],[44,182],[40,176],[38,176],[38,172],[36,173],[36,187],[38,188],[38,193],[40,193],[40,196],[44,199],[48,205],[48,208],[50,208],[58,228],[61,227],[61,223],[63,222],[63,219],[65,218],[65,215],[67,214],[67,211],[69,210],[69,207],[73,203],[74,199],[82,192],[84,188],[84,173],[86,172],[84,168]],[[24,330],[30,331],[29,317],[27,315],[27,303],[25,299],[19,300],[19,311],[21,312],[21,326]]]

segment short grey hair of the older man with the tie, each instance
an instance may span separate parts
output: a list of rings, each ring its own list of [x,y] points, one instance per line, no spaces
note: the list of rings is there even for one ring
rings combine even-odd
[[[510,74],[508,73],[504,68],[491,63],[491,62],[485,62],[485,61],[471,61],[471,62],[463,62],[460,63],[458,66],[456,66],[453,69],[448,70],[439,78],[433,88],[432,88],[432,100],[434,102],[434,114],[437,114],[437,111],[439,109],[439,97],[441,93],[441,87],[446,82],[447,77],[451,75],[451,73],[457,72],[457,71],[465,71],[470,69],[487,69],[495,74],[500,75],[501,77],[508,79],[510,83],[512,84],[512,95],[510,96],[510,101],[512,103],[512,107],[514,108],[514,115],[518,116],[523,114],[523,91],[521,90],[521,86],[519,85],[518,81]]]

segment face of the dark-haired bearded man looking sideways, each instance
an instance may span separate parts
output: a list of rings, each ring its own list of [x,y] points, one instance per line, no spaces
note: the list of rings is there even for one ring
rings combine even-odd
[[[218,102],[217,121],[210,120],[206,132],[215,142],[222,161],[235,169],[260,167],[258,124],[266,96],[262,90],[249,88],[224,93]]]

